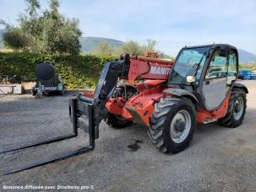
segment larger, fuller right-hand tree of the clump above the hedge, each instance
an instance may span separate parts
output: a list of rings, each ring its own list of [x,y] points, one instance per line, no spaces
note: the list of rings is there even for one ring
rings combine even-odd
[[[65,19],[58,8],[58,1],[52,0],[50,9],[40,18],[38,28],[41,29],[41,36],[35,45],[35,51],[78,54],[81,48],[79,37],[82,35],[79,20]]]

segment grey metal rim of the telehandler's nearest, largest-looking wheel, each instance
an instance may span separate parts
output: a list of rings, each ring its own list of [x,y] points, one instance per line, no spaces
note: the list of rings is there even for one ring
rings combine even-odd
[[[191,117],[187,110],[180,110],[173,117],[172,123],[170,125],[170,134],[172,141],[176,143],[181,143],[184,141],[191,128]]]

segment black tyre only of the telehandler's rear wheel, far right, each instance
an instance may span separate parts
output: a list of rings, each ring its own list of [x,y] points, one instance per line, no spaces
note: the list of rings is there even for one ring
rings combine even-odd
[[[242,99],[243,101],[242,115],[239,118],[235,118],[236,102],[237,102],[237,99],[239,98]],[[231,96],[228,102],[228,109],[227,109],[226,115],[218,120],[219,123],[226,127],[236,128],[237,126],[242,124],[242,120],[246,113],[246,108],[247,108],[247,99],[246,99],[245,91],[243,89],[232,90]]]

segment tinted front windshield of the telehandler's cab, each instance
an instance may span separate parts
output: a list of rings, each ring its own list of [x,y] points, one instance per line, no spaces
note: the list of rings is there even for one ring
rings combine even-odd
[[[174,66],[172,67],[169,83],[182,83],[182,80],[187,76],[188,72],[192,67],[194,67],[195,64],[199,64],[196,72],[196,80],[199,81],[209,50],[210,46],[182,49],[181,53],[177,57],[177,60],[175,61]]]

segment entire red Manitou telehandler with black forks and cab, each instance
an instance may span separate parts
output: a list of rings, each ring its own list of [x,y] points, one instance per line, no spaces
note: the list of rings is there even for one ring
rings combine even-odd
[[[74,134],[33,146],[77,136],[78,128],[89,133],[90,145],[6,173],[94,150],[101,120],[116,128],[133,122],[147,125],[150,140],[161,152],[181,152],[192,140],[197,123],[241,125],[248,88],[236,82],[237,75],[237,49],[231,45],[186,46],[174,63],[122,55],[106,63],[94,92],[85,91],[70,100]]]

